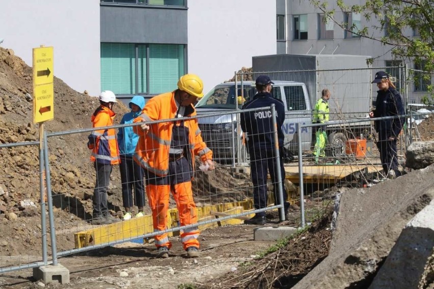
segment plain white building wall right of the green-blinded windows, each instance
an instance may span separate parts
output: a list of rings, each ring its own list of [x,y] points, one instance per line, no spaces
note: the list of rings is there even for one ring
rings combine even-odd
[[[252,67],[252,56],[276,54],[276,1],[188,0],[187,17],[188,72],[205,91]]]

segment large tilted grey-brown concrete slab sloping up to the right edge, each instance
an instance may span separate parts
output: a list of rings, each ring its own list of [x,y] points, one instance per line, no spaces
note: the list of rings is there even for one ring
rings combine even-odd
[[[434,199],[432,176],[434,165],[342,193],[329,255],[292,288],[368,288],[402,229]]]

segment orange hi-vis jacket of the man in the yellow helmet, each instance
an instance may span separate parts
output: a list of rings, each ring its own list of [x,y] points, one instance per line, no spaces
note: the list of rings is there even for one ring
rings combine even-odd
[[[146,103],[142,114],[135,118],[133,122],[174,119],[177,110],[174,91],[160,94]],[[196,115],[193,105],[185,107],[185,111],[186,117]],[[140,126],[133,127],[134,132],[139,135],[139,142],[135,147],[133,159],[157,176],[167,176],[169,174],[169,149],[173,125],[173,121],[150,124],[150,129],[146,135]],[[205,142],[202,140],[197,120],[185,120],[184,126],[189,130],[188,142],[192,156],[200,156],[202,161],[211,160],[212,151],[206,147]],[[192,158],[192,165],[194,169],[194,158]]]

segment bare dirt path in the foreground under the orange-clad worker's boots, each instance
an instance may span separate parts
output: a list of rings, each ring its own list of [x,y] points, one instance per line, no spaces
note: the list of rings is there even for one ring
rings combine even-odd
[[[124,243],[87,254],[59,259],[70,271],[70,284],[47,288],[176,288],[179,284],[206,284],[249,261],[273,242],[253,241],[251,225],[210,228],[200,236],[201,257],[188,259],[179,238],[172,238],[168,259],[154,258],[153,244]],[[121,277],[123,275],[127,276]],[[40,288],[31,270],[0,275],[0,288]]]

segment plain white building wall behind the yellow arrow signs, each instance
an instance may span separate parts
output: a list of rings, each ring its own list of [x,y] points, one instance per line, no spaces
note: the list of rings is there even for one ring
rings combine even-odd
[[[66,5],[67,3],[67,5]],[[32,48],[53,46],[54,74],[78,92],[100,93],[99,1],[2,0],[0,38],[26,64]]]

